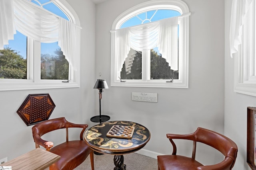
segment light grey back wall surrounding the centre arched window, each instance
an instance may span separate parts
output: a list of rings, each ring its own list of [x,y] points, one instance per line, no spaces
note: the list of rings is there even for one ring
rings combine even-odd
[[[101,72],[108,84],[112,23],[125,10],[146,1],[108,0],[96,6],[95,74]],[[191,12],[189,88],[110,87],[103,92],[102,114],[110,115],[110,120],[134,121],[148,127],[151,139],[141,152],[152,157],[170,154],[166,133],[192,133],[197,127],[224,133],[224,1],[184,2]],[[158,103],[132,101],[132,92],[158,93]],[[179,153],[191,155],[190,148],[179,147]],[[206,160],[205,155],[212,154],[208,149],[201,152],[198,160],[206,164],[220,160],[217,153]]]

